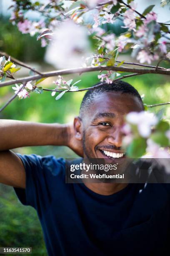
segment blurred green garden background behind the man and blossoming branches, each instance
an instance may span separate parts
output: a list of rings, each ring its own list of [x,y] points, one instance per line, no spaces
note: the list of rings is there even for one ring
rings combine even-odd
[[[42,1],[45,2],[45,1]],[[136,1],[139,2],[139,1]],[[168,8],[160,8],[160,1],[149,1],[149,4],[156,4],[153,11],[158,13],[158,20],[165,22],[168,20]],[[141,3],[141,2],[140,2]],[[40,41],[36,36],[22,34],[10,21],[10,10],[7,8],[12,4],[12,0],[0,1],[0,51],[5,51],[21,61],[30,64],[40,72],[55,70],[52,65],[45,63],[45,48],[40,46]],[[139,4],[139,11],[145,9],[148,1]],[[30,14],[34,20],[38,17]],[[115,33],[121,33],[122,24],[113,24],[112,29]],[[31,46],[31,47],[30,47]],[[134,61],[130,57],[130,52],[121,56],[119,60]],[[154,63],[153,63],[154,64]],[[155,63],[156,64],[156,63]],[[163,63],[163,67],[168,64]],[[71,78],[74,82],[82,79],[78,84],[80,88],[90,87],[99,82],[96,72],[65,76],[66,80]],[[29,70],[22,68],[15,77],[28,76]],[[42,82],[44,88],[54,88],[52,82],[57,77],[46,79]],[[142,76],[124,79],[132,84],[140,95],[145,95],[144,103],[156,104],[170,101],[170,79],[168,76],[146,74]],[[12,97],[14,91],[12,86],[0,88],[0,106]],[[0,119],[26,120],[42,123],[66,123],[73,120],[79,114],[80,102],[85,92],[66,93],[60,100],[56,101],[50,92],[43,92],[42,95],[32,93],[30,98],[18,100],[16,98],[5,110],[0,113]],[[101,102],[102,103],[102,102]],[[164,109],[167,119],[170,119],[170,107],[156,107],[152,111],[158,112]],[[55,155],[56,157],[77,157],[67,147],[41,146],[18,148],[15,152],[21,154]],[[21,205],[12,187],[0,184],[0,247],[10,246],[29,246],[32,247],[32,255],[47,255],[43,241],[42,230],[37,214],[32,207]],[[14,255],[14,254],[12,254]]]

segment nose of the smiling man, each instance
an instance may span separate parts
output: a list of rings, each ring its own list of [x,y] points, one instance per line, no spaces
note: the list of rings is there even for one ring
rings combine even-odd
[[[107,143],[115,145],[117,148],[122,146],[123,133],[121,127],[117,127],[107,136]]]

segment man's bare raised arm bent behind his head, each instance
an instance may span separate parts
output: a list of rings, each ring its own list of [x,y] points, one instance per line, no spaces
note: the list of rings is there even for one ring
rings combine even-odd
[[[73,125],[32,123],[17,120],[0,120],[0,183],[25,188],[23,162],[13,148],[24,146],[69,146],[82,154],[81,146],[72,146]],[[76,148],[79,148],[76,151]]]

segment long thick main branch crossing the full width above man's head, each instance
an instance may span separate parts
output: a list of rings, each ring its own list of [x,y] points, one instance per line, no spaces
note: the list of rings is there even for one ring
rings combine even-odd
[[[120,71],[120,72],[128,72],[128,73],[138,73],[138,74],[164,74],[164,75],[170,75],[170,69],[134,69],[134,68],[128,68],[128,67],[114,67],[114,66],[102,66],[102,67],[81,67],[81,68],[75,68],[75,69],[62,69],[58,71],[51,71],[51,72],[44,72],[41,75],[34,75],[30,77],[22,77],[15,79],[13,81],[7,81],[2,82],[0,84],[0,87],[8,86],[11,84],[17,84],[17,83],[23,83],[28,82],[30,80],[37,80],[44,77],[54,77],[58,75],[66,75],[66,74],[82,74],[85,72],[94,72],[94,71]]]

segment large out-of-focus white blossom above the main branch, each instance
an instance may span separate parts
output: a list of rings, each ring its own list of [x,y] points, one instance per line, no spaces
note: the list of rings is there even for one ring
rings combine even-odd
[[[67,20],[55,29],[45,60],[57,68],[74,68],[80,67],[90,54],[87,29]]]

